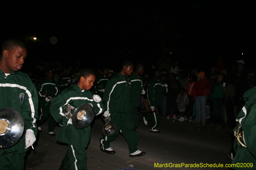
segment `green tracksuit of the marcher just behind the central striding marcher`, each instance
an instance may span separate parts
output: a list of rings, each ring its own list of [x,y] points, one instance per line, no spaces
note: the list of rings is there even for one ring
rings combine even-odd
[[[138,113],[137,113],[137,107],[140,106],[140,94],[142,91],[142,77],[139,75],[137,76],[134,72],[132,72],[132,75],[129,77],[131,80],[131,107],[132,107],[132,117],[134,122],[134,129],[138,128]]]

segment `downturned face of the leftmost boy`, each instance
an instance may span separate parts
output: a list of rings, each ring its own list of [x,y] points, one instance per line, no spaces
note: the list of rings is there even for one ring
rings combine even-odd
[[[27,56],[27,50],[24,48],[17,47],[12,51],[3,51],[3,56],[6,57],[6,65],[3,68],[4,73],[11,73],[12,71],[18,71],[21,69],[24,59]]]

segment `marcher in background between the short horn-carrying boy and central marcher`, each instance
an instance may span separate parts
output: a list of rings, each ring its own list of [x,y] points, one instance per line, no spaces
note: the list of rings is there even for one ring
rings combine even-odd
[[[104,90],[109,80],[109,77],[108,77],[109,70],[107,67],[104,67],[102,71],[103,73],[96,78],[96,81],[95,81],[96,85],[94,87],[95,87],[95,91],[98,92],[99,96],[103,98]]]

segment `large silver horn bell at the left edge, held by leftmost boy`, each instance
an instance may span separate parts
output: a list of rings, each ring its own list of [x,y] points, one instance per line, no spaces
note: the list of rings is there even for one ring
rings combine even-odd
[[[21,114],[13,108],[0,109],[0,148],[8,148],[18,142],[24,131]]]

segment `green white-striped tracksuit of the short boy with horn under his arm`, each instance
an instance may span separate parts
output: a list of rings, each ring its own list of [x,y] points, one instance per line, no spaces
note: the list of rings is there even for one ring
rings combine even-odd
[[[60,124],[56,141],[68,144],[68,151],[62,160],[60,169],[87,169],[85,148],[90,140],[91,125],[84,129],[76,129],[72,124],[68,124],[68,119],[64,115],[64,106],[70,104],[78,108],[84,104],[89,104],[93,107],[95,115],[99,115],[104,112],[103,104],[101,101],[95,102],[92,97],[92,92],[86,89],[83,92],[76,84],[65,89],[52,100],[51,114]]]

